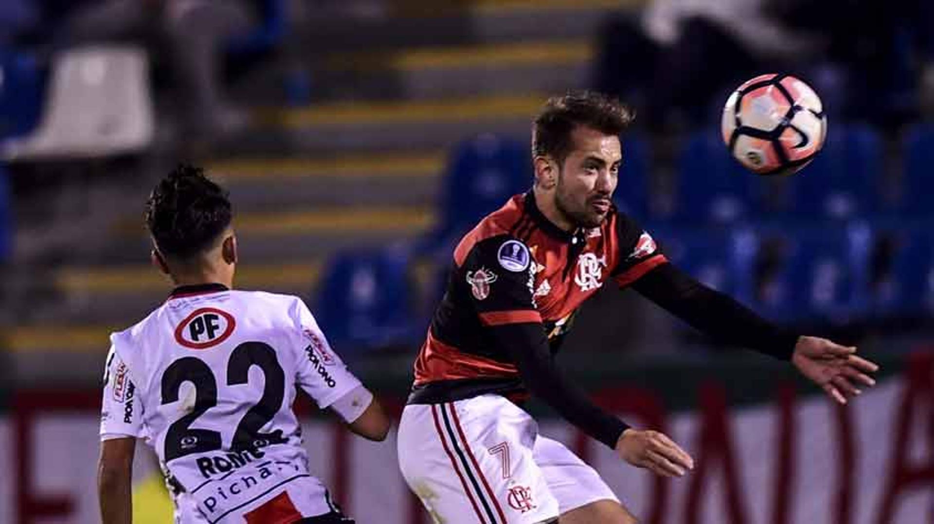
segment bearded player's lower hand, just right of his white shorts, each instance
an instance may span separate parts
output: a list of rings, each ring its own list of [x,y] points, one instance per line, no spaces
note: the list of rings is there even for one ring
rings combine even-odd
[[[660,476],[685,476],[687,470],[694,469],[694,459],[657,431],[624,431],[616,441],[616,453],[624,461]]]

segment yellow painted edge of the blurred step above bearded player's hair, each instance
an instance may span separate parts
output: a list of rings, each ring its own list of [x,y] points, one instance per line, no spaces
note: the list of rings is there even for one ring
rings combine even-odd
[[[328,59],[327,65],[334,70],[418,71],[573,64],[587,62],[593,55],[593,44],[587,40],[559,40],[340,53]]]

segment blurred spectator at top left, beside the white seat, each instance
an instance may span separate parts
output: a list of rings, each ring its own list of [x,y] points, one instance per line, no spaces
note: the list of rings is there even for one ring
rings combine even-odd
[[[219,90],[219,52],[248,30],[256,4],[245,0],[105,0],[78,8],[66,24],[65,44],[132,41],[166,57],[186,131],[214,137],[240,131],[246,114]]]

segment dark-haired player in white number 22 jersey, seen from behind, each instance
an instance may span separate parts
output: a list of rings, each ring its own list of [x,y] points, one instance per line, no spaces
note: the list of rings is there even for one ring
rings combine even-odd
[[[180,166],[147,206],[152,261],[176,285],[111,335],[98,471],[105,524],[132,519],[137,438],[152,446],[177,524],[331,524],[344,516],[308,471],[292,411],[298,387],[350,431],[383,440],[389,420],[296,296],[232,289],[226,192]]]

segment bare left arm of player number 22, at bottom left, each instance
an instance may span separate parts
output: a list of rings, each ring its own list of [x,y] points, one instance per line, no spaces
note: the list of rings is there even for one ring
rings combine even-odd
[[[136,439],[113,438],[101,443],[97,467],[97,492],[104,524],[133,521],[132,476]]]

